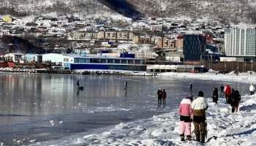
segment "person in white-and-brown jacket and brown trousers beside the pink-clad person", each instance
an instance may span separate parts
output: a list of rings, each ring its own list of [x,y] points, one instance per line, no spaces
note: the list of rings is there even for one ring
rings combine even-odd
[[[203,91],[199,91],[197,99],[192,101],[193,123],[195,126],[195,137],[197,142],[205,143],[206,137],[206,110],[208,103],[203,97]],[[200,127],[200,128],[199,128]]]

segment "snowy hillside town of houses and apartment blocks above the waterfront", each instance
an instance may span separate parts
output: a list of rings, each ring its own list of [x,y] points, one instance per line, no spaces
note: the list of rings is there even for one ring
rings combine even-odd
[[[66,18],[39,16],[26,19],[2,16],[1,38],[11,36],[29,39],[30,43],[43,51],[33,52],[29,47],[19,45],[19,42],[6,43],[4,39],[0,39],[1,61],[50,61],[64,69],[64,56],[73,55],[74,59],[68,60],[72,61],[70,63],[84,63],[75,58],[90,56],[97,59],[86,63],[132,64],[128,60],[111,62],[108,61],[110,59],[99,58],[124,58],[126,54],[126,58],[140,59],[141,64],[146,64],[147,69],[142,71],[147,72],[178,72],[177,67],[173,69],[176,65],[193,66],[183,69],[184,72],[205,72],[206,68],[222,72],[236,69],[238,72],[245,72],[252,70],[255,61],[255,28],[232,28],[217,22],[205,23],[178,18],[133,17],[127,18],[119,26],[114,24],[116,23],[108,18],[79,18],[73,15]],[[32,41],[33,39],[37,41]],[[135,64],[136,61],[130,62]],[[230,69],[228,64],[233,62],[238,64],[236,67],[232,65]],[[246,67],[246,64],[249,65]],[[206,68],[195,69],[198,66]],[[70,69],[70,65],[66,69]]]

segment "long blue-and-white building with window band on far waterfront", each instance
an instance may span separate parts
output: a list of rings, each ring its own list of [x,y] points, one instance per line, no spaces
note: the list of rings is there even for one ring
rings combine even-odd
[[[123,55],[124,56],[123,58]],[[69,70],[125,70],[146,71],[144,59],[132,58],[133,54],[121,54],[120,57],[108,55],[64,55],[63,66]]]

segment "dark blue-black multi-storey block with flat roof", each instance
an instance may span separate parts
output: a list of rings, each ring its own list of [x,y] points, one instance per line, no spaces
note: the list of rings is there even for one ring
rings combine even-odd
[[[201,61],[206,52],[206,37],[197,34],[183,36],[184,61]]]

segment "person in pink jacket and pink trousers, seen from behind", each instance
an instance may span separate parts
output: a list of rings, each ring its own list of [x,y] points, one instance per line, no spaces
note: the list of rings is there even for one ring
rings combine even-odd
[[[182,99],[181,104],[179,105],[179,115],[181,120],[181,129],[180,137],[181,141],[185,141],[185,131],[187,135],[187,140],[191,140],[191,121],[192,121],[192,95],[186,96],[185,99]]]

